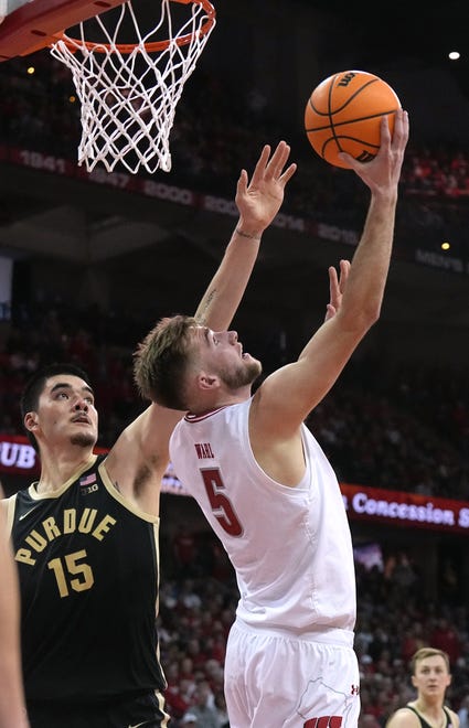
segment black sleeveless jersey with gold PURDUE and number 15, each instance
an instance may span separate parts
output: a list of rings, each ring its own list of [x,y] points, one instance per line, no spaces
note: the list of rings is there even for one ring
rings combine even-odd
[[[94,456],[53,495],[10,499],[28,700],[163,690],[159,518],[132,507]]]

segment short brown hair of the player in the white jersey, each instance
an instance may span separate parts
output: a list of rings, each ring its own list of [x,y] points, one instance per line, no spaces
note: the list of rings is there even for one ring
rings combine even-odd
[[[161,319],[134,354],[134,379],[140,395],[169,409],[189,409],[184,377],[191,347],[188,315]]]

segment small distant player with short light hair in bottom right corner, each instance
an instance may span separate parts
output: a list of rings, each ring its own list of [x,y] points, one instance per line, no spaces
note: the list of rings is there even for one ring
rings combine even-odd
[[[446,652],[420,647],[412,657],[411,671],[417,699],[396,710],[386,728],[459,728],[457,714],[445,705],[446,689],[451,684]]]

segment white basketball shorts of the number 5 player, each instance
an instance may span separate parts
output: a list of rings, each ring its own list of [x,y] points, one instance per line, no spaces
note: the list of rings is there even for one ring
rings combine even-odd
[[[236,620],[227,643],[231,728],[356,728],[360,674],[353,633],[296,636]]]

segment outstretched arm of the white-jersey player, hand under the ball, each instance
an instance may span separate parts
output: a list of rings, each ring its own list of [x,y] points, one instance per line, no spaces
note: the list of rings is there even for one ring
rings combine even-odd
[[[298,361],[267,377],[255,396],[253,413],[264,437],[281,440],[297,431],[380,315],[407,139],[407,114],[398,110],[392,139],[387,120],[383,120],[382,143],[373,161],[364,164],[348,157],[371,190],[364,229],[348,270],[347,286],[340,292],[339,310],[327,317]]]

